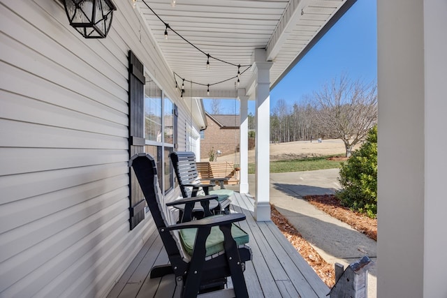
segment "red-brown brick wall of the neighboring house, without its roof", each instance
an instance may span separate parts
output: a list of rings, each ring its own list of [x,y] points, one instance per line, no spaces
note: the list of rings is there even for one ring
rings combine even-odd
[[[239,128],[221,128],[217,122],[207,115],[207,129],[205,129],[205,138],[200,140],[200,159],[209,161],[208,152],[212,148],[214,151],[220,150],[221,155],[228,155],[239,151]],[[219,161],[219,156],[217,158]]]

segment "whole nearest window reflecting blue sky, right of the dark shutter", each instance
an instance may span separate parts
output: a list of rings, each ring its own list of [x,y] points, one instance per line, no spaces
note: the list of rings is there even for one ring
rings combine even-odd
[[[145,152],[154,156],[159,169],[159,184],[165,193],[174,187],[174,170],[169,154],[174,150],[174,104],[150,79],[145,84]]]

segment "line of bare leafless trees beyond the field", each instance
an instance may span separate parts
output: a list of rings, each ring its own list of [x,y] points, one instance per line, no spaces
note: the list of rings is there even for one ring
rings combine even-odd
[[[270,114],[270,142],[340,139],[346,156],[351,156],[353,146],[364,140],[376,123],[376,84],[342,75],[299,103],[278,100]],[[249,129],[254,125],[254,115],[249,114]]]

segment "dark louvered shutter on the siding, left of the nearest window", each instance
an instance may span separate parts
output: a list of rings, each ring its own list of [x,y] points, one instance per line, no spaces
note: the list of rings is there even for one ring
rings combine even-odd
[[[129,51],[129,158],[145,151],[144,98],[144,67],[135,54]],[[133,230],[145,219],[146,202],[132,169],[129,170],[129,181],[129,222]]]

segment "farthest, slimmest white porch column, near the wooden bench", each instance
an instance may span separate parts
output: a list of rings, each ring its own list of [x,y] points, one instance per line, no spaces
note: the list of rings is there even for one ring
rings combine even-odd
[[[237,97],[240,100],[239,192],[249,193],[249,96],[245,95],[245,89],[238,89]]]

